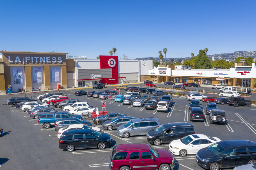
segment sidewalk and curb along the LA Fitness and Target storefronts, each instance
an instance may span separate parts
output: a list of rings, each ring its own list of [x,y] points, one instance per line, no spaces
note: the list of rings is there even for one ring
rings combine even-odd
[[[143,82],[137,82],[137,83],[128,83],[128,84],[111,84],[111,85],[107,85],[105,87],[111,87],[111,86],[117,86],[117,85],[132,85],[132,84],[141,84]],[[92,88],[92,86],[90,87],[75,87],[75,88],[62,88],[60,89],[61,90],[77,90],[77,89],[85,89],[85,88]],[[41,90],[41,91],[32,91],[32,93],[39,93],[39,92],[45,92],[45,93],[50,93],[51,91],[58,91],[58,89],[52,89],[52,90]],[[14,92],[14,93],[5,93],[5,94],[0,94],[0,95],[13,95],[13,94],[28,94],[28,93],[31,93],[31,92],[26,92],[26,93],[21,93],[21,92]]]

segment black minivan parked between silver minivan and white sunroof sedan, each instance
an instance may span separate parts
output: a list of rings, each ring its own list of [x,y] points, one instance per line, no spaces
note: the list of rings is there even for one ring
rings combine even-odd
[[[186,122],[167,123],[148,131],[147,140],[150,144],[160,145],[195,134],[194,126]]]

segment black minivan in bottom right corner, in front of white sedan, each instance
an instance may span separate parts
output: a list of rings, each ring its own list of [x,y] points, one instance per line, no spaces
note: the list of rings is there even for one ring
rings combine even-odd
[[[196,154],[196,162],[204,169],[219,170],[254,163],[256,160],[256,143],[252,141],[221,141]]]

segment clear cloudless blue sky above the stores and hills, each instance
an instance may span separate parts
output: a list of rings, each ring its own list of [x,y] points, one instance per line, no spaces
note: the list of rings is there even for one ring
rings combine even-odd
[[[189,57],[256,50],[256,1],[0,0],[0,50]]]

